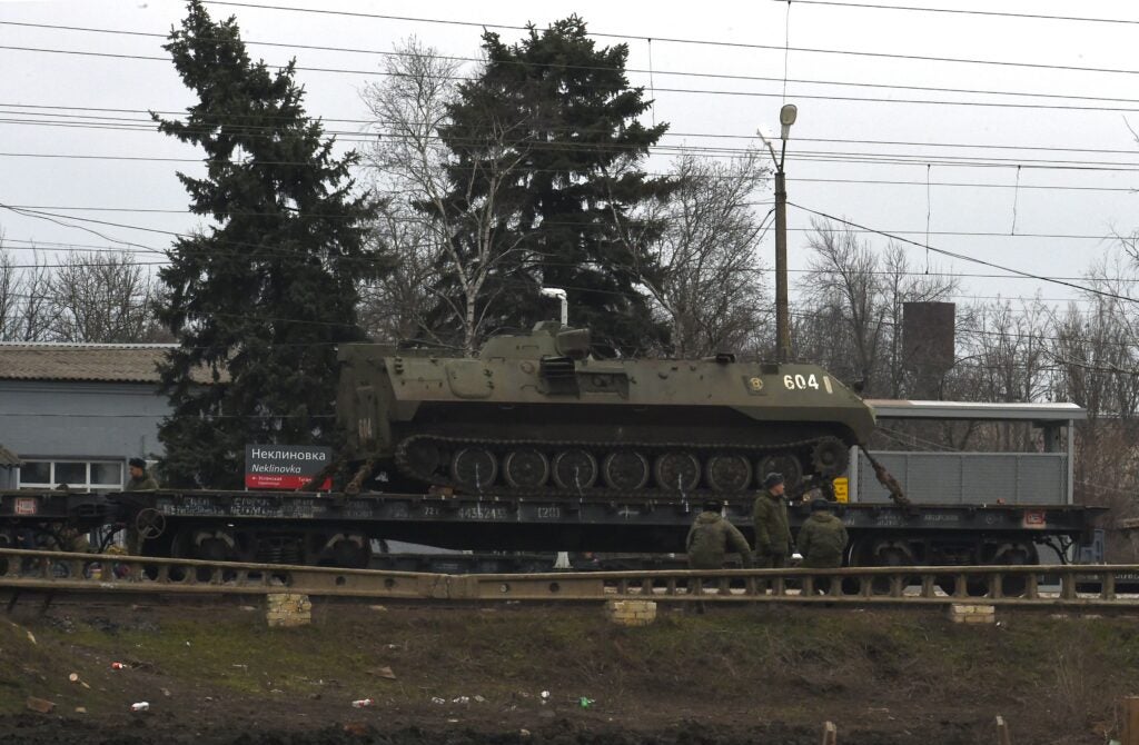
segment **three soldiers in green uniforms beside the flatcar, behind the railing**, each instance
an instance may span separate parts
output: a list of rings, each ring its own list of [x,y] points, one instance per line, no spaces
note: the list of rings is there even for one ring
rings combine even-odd
[[[797,545],[792,540],[787,521],[787,501],[784,497],[784,477],[768,474],[763,480],[763,491],[755,498],[752,519],[755,524],[755,552],[747,539],[721,514],[722,502],[708,500],[704,511],[696,516],[688,531],[686,549],[688,566],[694,570],[719,570],[724,556],[739,554],[744,567],[780,568],[798,548],[803,560],[800,566],[808,568],[834,568],[842,566],[846,550],[846,526],[835,517],[831,505],[825,499],[811,501],[811,516],[798,531]]]

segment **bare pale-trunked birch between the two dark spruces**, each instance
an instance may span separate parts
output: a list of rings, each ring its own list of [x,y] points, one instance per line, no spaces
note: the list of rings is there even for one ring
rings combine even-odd
[[[448,328],[458,327],[454,341],[474,354],[502,290],[490,280],[505,263],[518,265],[524,253],[517,241],[505,243],[498,228],[510,220],[509,177],[525,152],[516,146],[517,124],[487,121],[467,141],[473,156],[460,162],[441,139],[460,64],[413,38],[395,52],[385,63],[386,77],[361,92],[378,132],[368,158],[378,189],[391,195],[378,234],[404,264],[371,294],[382,304],[410,303],[388,305],[388,313],[402,319],[400,333],[415,328],[443,341]],[[420,227],[393,231],[393,221]],[[409,296],[405,286],[393,284],[400,281],[418,283],[416,293]]]

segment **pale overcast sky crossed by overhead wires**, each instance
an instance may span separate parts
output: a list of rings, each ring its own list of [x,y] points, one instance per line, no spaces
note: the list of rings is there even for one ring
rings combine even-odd
[[[207,7],[215,18],[237,16],[254,58],[280,65],[296,57],[310,114],[344,133],[345,145],[367,126],[359,90],[377,80],[379,52],[399,40],[413,34],[442,54],[474,57],[481,28],[472,24],[513,41],[521,31],[494,26],[544,26],[576,13],[598,43],[629,44],[630,81],[652,88],[652,117],[670,124],[664,146],[728,154],[755,145],[759,126],[778,131],[779,107],[796,104],[786,166],[795,205],[1065,278],[1122,255],[1105,236],[1139,228],[1139,146],[1128,128],[1139,131],[1133,3],[904,3],[983,11],[969,14],[800,0],[259,3],[269,0]],[[1109,22],[983,15],[992,13]],[[144,252],[141,261],[161,261],[171,236],[154,231],[197,224],[174,172],[192,172],[200,154],[157,133],[145,113],[177,113],[192,101],[161,49],[183,15],[185,5],[169,0],[0,0],[0,205],[56,215],[52,222],[0,207],[8,249],[30,261],[33,244],[106,249],[126,241]],[[671,157],[665,148],[649,170],[667,171]],[[794,293],[810,214],[793,207],[788,222]],[[970,277],[1005,272],[908,251],[919,271],[965,276],[958,302],[1077,295],[1036,279]],[[769,234],[765,265],[772,256]]]

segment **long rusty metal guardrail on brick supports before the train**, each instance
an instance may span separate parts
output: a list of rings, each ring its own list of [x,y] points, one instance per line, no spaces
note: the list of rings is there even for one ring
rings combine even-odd
[[[842,603],[1139,608],[1139,565],[435,574],[0,549],[0,590],[409,600]]]

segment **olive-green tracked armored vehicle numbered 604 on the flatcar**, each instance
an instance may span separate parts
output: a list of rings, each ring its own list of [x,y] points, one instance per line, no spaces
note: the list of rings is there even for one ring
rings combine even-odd
[[[384,470],[466,493],[674,498],[745,492],[775,470],[794,490],[845,470],[875,426],[816,366],[596,359],[587,329],[557,322],[477,358],[350,344],[339,361],[357,486]]]

